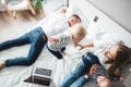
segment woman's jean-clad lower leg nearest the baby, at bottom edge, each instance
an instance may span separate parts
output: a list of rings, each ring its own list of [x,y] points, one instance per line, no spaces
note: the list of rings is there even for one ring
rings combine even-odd
[[[86,79],[84,76],[81,76],[75,83],[73,83],[70,87],[83,87],[88,79]]]

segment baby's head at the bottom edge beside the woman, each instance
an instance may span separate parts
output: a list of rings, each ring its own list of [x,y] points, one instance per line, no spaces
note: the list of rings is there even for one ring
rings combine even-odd
[[[110,80],[106,76],[98,76],[97,83],[99,87],[110,87]]]

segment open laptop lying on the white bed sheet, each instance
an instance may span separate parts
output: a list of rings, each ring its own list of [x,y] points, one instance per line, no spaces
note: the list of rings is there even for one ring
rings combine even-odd
[[[49,86],[52,80],[51,73],[52,73],[52,71],[50,69],[36,67],[33,71],[33,75],[31,75],[24,82],[37,84],[37,85]]]

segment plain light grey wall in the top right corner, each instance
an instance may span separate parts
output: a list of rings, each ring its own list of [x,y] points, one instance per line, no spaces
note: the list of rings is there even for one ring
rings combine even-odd
[[[131,33],[131,0],[87,0]]]

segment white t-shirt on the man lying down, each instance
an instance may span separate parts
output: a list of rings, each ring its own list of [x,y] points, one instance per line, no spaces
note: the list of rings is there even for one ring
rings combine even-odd
[[[64,32],[69,27],[68,18],[64,14],[49,15],[45,18],[43,25],[40,25],[46,36],[53,36]]]

